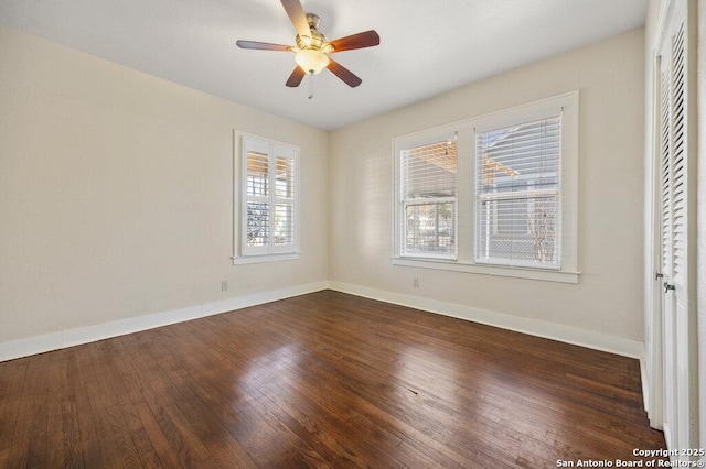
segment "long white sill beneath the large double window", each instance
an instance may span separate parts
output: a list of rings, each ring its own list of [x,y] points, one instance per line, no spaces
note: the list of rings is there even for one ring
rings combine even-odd
[[[541,280],[546,282],[578,283],[580,272],[543,271],[538,269],[503,268],[496,265],[469,264],[453,261],[427,259],[393,258],[393,265],[408,268],[436,269],[450,272],[464,272],[481,275],[511,276],[516,279]]]

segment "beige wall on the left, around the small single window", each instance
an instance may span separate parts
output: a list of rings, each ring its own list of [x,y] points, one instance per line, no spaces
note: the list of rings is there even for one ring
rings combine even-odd
[[[232,264],[233,129],[300,145],[299,261]],[[325,132],[0,29],[0,343],[325,281],[327,152]]]

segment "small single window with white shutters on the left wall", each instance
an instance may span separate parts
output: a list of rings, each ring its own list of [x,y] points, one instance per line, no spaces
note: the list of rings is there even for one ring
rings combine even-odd
[[[299,149],[242,135],[240,150],[242,236],[235,262],[298,258]]]

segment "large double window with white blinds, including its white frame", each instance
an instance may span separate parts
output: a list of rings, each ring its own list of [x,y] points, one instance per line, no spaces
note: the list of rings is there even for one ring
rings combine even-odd
[[[393,263],[575,283],[578,91],[394,140]]]

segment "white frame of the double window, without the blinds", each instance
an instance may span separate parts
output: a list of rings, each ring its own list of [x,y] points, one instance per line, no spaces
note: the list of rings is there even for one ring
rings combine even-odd
[[[561,112],[560,167],[560,265],[558,269],[490,265],[474,261],[475,247],[475,133],[510,127]],[[578,129],[579,92],[570,91],[511,109],[398,137],[393,140],[393,258],[394,265],[438,269],[485,275],[512,276],[563,283],[578,283]],[[409,258],[403,255],[400,203],[400,151],[434,141],[439,135],[458,135],[457,162],[457,250],[456,259]]]

